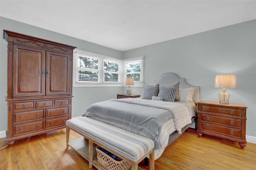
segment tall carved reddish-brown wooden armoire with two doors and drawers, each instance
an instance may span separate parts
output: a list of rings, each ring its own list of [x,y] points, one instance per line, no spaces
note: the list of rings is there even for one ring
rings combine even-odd
[[[17,139],[66,127],[76,47],[7,30],[3,38],[8,42],[6,139],[12,147]]]

